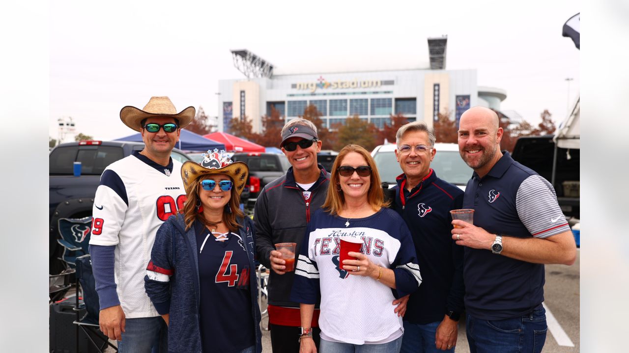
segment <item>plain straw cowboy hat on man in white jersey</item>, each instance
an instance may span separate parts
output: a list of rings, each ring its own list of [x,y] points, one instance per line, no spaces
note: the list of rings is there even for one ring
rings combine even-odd
[[[123,107],[120,110],[120,120],[131,129],[140,131],[143,128],[140,122],[147,117],[173,117],[179,121],[177,125],[182,129],[194,119],[195,112],[194,107],[187,107],[177,113],[169,97],[151,97],[142,110],[131,106]]]

